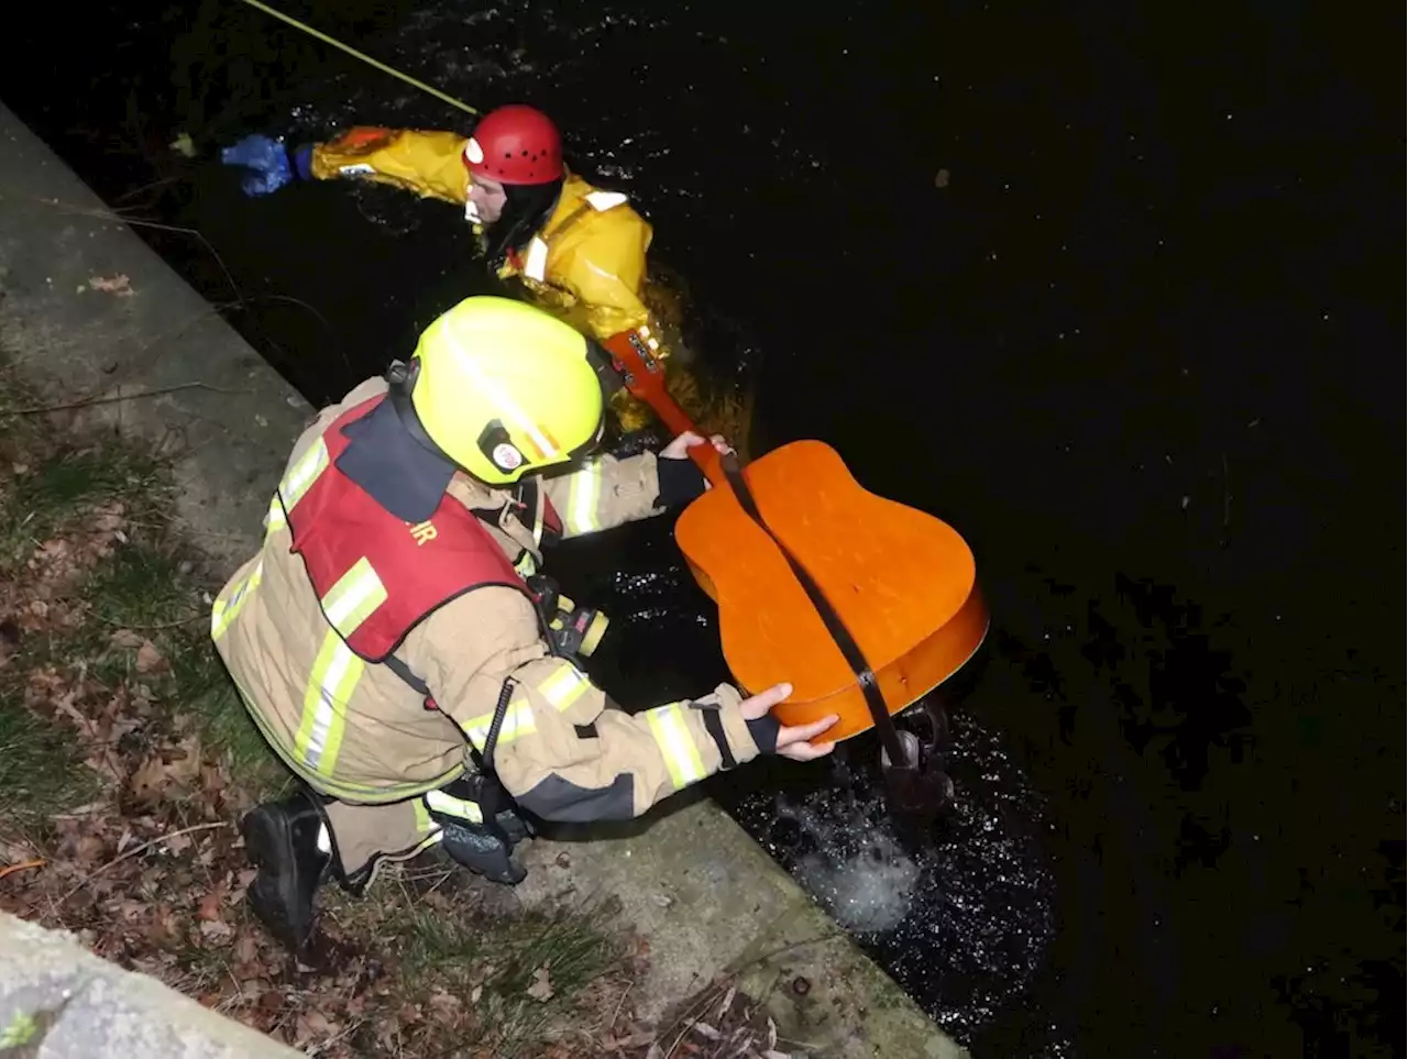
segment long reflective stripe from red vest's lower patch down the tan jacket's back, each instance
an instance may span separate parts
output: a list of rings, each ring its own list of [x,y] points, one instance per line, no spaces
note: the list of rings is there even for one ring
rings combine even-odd
[[[366,662],[353,653],[344,637],[356,632],[384,601],[386,586],[366,558],[358,559],[322,597],[322,613],[332,628],[324,635],[313,663],[293,744],[298,760],[320,776],[331,776],[337,769],[348,703],[366,672]]]

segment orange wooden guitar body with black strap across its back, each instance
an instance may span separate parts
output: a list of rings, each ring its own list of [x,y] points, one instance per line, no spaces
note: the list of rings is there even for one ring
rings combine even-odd
[[[777,541],[821,587],[877,677],[890,714],[956,673],[987,637],[973,552],[948,524],[869,493],[819,441],[743,469]],[[824,738],[872,728],[860,683],[787,559],[724,483],[680,514],[680,551],[718,604],[734,679],[749,691],[788,682],[783,724],[839,721]]]

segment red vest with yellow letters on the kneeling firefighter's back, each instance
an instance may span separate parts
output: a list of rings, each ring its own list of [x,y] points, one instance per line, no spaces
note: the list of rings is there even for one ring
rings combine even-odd
[[[528,586],[479,518],[449,494],[435,514],[413,525],[337,469],[338,456],[351,444],[342,430],[370,414],[382,400],[373,397],[351,408],[324,432],[327,465],[287,511],[293,551],[303,556],[324,614],[335,628],[342,625],[338,632],[346,645],[367,662],[386,660],[417,624],[467,591],[501,584],[528,594]],[[338,594],[366,591],[362,579],[372,573],[380,586],[373,582],[375,591],[359,599],[369,603],[383,593],[384,599],[348,631],[346,614],[329,613],[339,607],[328,594],[359,565]]]

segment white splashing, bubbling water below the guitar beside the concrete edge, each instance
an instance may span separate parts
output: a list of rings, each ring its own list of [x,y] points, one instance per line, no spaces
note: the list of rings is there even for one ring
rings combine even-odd
[[[928,832],[893,818],[874,745],[845,744],[829,770],[758,790],[741,822],[946,1032],[967,1044],[1032,1001],[1056,934],[1042,846],[1045,801],[1002,739],[950,718],[943,767],[956,798]],[[1032,1013],[1035,1017],[1035,1013]],[[1028,1055],[1070,1055],[1045,1020],[1022,1027]],[[1035,1041],[1033,1038],[1041,1038]],[[1017,1052],[1005,1051],[1004,1055]]]

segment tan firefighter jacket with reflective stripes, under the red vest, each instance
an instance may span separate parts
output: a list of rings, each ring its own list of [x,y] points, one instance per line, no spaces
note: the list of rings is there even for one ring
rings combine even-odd
[[[310,462],[318,439],[337,417],[384,391],[382,379],[369,379],[318,414],[289,459],[280,486],[286,499],[310,475],[339,473]],[[656,456],[649,452],[600,456],[538,482],[565,537],[659,511]],[[456,475],[449,493],[480,515],[497,513],[490,534],[520,572],[536,568],[542,556],[529,525],[536,520],[518,514],[514,493],[465,475]],[[375,804],[451,782],[466,767],[466,741],[483,749],[505,682],[511,698],[493,767],[520,804],[548,820],[635,817],[725,763],[758,755],[734,687],[627,714],[570,660],[549,653],[532,603],[501,586],[451,600],[397,648],[396,656],[431,690],[438,710],[427,708],[424,696],[389,666],[352,653],[290,546],[276,497],[263,546],[214,601],[211,637],[260,731],[290,769],[325,794]]]

